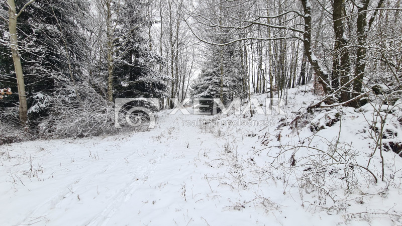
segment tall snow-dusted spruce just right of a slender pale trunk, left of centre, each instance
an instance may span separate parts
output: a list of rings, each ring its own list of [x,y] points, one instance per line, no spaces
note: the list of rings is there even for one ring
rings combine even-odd
[[[148,46],[143,32],[150,19],[146,4],[127,0],[120,6],[120,24],[115,31],[116,44],[114,90],[117,97],[165,97],[168,77],[155,70],[160,60]],[[121,37],[121,38],[119,38]]]

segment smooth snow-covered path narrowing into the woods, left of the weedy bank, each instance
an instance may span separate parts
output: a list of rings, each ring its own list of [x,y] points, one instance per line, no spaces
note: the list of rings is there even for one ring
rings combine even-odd
[[[183,189],[192,189],[185,183],[196,168],[188,163],[214,140],[200,133],[196,127],[182,127],[180,116],[165,115],[154,130],[130,137],[6,146],[10,158],[7,152],[2,156],[0,203],[9,207],[0,212],[1,224],[138,225],[141,218],[153,222],[170,211],[177,197],[186,202],[189,191]],[[205,182],[202,173],[195,174],[196,183]]]

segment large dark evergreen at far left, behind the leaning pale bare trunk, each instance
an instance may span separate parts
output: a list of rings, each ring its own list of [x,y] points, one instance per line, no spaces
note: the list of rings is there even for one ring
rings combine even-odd
[[[16,8],[21,9],[26,2],[16,0]],[[86,0],[42,0],[32,3],[18,17],[17,34],[27,84],[28,108],[37,103],[38,99],[34,94],[38,92],[47,96],[62,88],[70,96],[77,95],[72,86],[83,80],[88,52],[84,18],[88,8]],[[2,10],[7,10],[5,3],[2,4]],[[5,23],[1,25],[3,31],[7,30]],[[2,34],[3,39],[9,39],[7,32]],[[0,70],[5,72],[2,73],[2,77],[6,78],[5,85],[16,90],[10,48],[4,45],[1,51],[4,54],[0,58]],[[43,110],[41,115],[46,115]],[[34,118],[37,116],[31,115]]]

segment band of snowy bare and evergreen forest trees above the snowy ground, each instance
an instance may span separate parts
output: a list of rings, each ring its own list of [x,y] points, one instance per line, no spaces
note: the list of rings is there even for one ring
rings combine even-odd
[[[14,94],[0,117],[68,137],[113,130],[122,97],[163,109],[186,96],[286,99],[314,82],[328,106],[393,101],[399,14],[400,1],[5,1],[0,87]]]

